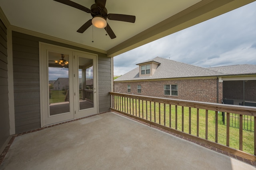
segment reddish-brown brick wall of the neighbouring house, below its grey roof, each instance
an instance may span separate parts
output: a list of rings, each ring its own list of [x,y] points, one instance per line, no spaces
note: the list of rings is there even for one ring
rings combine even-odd
[[[165,96],[164,84],[178,84],[178,96]],[[127,85],[131,86],[131,93],[143,96],[173,98],[199,102],[217,102],[217,79],[193,80],[160,80],[147,82],[115,82],[114,92],[128,93]],[[137,93],[137,85],[141,85],[141,94]],[[218,82],[219,103],[222,100],[222,82]]]

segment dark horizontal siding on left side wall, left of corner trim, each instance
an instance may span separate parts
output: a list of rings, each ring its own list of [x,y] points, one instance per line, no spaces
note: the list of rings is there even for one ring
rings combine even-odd
[[[10,135],[7,29],[0,20],[0,148]]]

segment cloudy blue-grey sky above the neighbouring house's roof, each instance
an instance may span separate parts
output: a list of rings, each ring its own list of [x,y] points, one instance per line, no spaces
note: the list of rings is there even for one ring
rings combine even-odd
[[[201,67],[256,64],[256,2],[114,57],[114,75],[162,57]]]

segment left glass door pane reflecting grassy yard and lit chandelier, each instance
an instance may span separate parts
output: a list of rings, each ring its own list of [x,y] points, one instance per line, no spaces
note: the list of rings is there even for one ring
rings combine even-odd
[[[70,112],[68,55],[48,52],[50,115]]]

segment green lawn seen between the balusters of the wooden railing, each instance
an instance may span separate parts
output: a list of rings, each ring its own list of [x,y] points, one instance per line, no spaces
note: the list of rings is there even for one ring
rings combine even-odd
[[[123,100],[124,101],[124,100]],[[123,102],[123,111],[124,105],[126,106],[126,113],[130,113],[130,101],[127,100],[126,104]],[[128,106],[128,111],[127,111]],[[143,106],[143,114],[142,114],[142,106]],[[122,111],[122,102],[121,102],[121,111]],[[139,113],[140,107],[140,113]],[[146,113],[146,101],[139,102],[137,100],[137,116],[143,117],[144,119],[150,120],[150,102],[147,102],[147,113]],[[160,104],[160,114],[159,114],[159,103],[156,103],[156,114],[154,115],[154,102],[151,104],[151,121],[155,121],[159,123],[160,117],[160,124],[166,125],[170,127],[170,116],[169,116],[169,105],[166,104],[165,106],[165,116],[164,116],[164,104]],[[136,104],[134,100],[134,107],[131,104],[131,114],[132,108],[134,110],[134,115],[136,115]],[[120,109],[120,108],[119,108]],[[171,106],[171,127],[176,129],[176,119],[177,119],[177,130],[182,131],[182,107],[177,106],[177,118],[176,118],[176,107]],[[160,116],[159,116],[160,115]],[[215,142],[215,111],[208,111],[208,140]],[[226,117],[225,117],[226,119]],[[244,120],[244,119],[243,119]],[[165,123],[164,123],[165,122]],[[232,122],[230,121],[230,125]],[[234,123],[234,122],[233,122]],[[237,123],[237,122],[236,122]],[[254,121],[252,122],[254,127]],[[183,131],[185,133],[189,133],[189,108],[184,107],[184,125]],[[206,111],[204,109],[199,109],[199,137],[206,138]],[[191,108],[191,134],[197,135],[197,109]],[[222,145],[226,145],[226,125],[222,122],[222,113],[218,113],[218,143]],[[230,127],[230,147],[234,149],[239,149],[239,129],[235,127]],[[243,130],[243,151],[254,154],[254,132]]]

